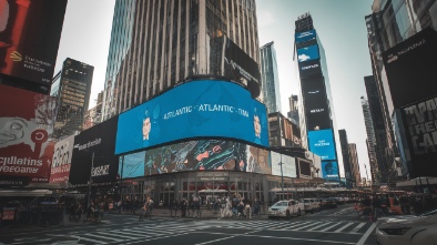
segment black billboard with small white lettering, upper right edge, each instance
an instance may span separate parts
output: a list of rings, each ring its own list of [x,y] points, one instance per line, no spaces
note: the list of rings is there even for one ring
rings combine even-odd
[[[383,52],[395,109],[437,94],[437,32],[426,28]]]

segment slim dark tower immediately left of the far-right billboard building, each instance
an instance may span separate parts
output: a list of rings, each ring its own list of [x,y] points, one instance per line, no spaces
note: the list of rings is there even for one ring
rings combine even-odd
[[[377,184],[380,181],[385,182],[386,180],[385,177],[383,178],[382,176],[383,172],[386,173],[384,169],[386,164],[383,164],[384,162],[380,153],[380,150],[384,147],[380,147],[378,144],[378,143],[384,144],[386,142],[380,139],[382,135],[385,135],[386,131],[384,130],[383,116],[380,114],[380,106],[378,106],[379,100],[377,95],[373,95],[375,94],[374,93],[375,90],[372,90],[372,88],[376,88],[376,86],[372,84],[375,84],[375,80],[373,79],[372,75],[365,76],[364,80],[366,83],[367,94],[369,95],[369,100],[366,100],[364,96],[362,96],[364,124],[366,126],[366,134],[367,134],[367,140],[366,140],[367,153],[368,153],[368,160],[370,165],[372,181],[375,184]],[[370,108],[373,109],[373,113],[370,111]],[[373,119],[375,119],[376,122]],[[378,130],[375,130],[374,126],[377,126]]]

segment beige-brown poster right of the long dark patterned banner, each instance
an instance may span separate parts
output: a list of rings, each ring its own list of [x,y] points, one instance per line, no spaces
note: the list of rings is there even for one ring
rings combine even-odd
[[[268,151],[256,146],[247,145],[247,167],[246,172],[272,174],[268,162]]]

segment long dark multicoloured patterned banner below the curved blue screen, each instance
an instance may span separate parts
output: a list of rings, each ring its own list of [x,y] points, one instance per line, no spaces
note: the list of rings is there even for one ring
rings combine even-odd
[[[144,175],[196,170],[246,171],[246,145],[233,141],[200,140],[145,152]]]

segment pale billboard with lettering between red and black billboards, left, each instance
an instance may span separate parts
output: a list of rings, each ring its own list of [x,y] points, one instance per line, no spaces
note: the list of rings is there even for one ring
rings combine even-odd
[[[50,183],[64,183],[69,181],[73,145],[74,135],[54,144]]]

